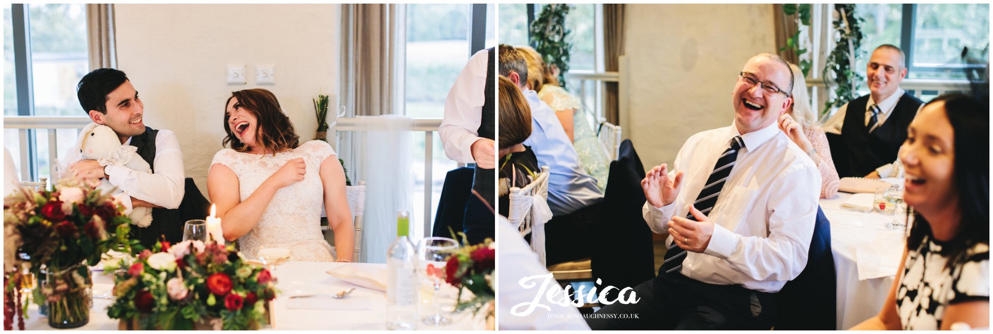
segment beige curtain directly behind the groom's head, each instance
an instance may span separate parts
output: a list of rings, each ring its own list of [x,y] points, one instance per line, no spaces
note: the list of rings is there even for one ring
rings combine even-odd
[[[89,70],[117,67],[113,4],[86,5],[86,35]]]

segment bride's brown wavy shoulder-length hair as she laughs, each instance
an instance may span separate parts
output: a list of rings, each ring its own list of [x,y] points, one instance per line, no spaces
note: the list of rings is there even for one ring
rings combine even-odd
[[[237,152],[247,152],[248,146],[234,137],[231,128],[227,125],[230,115],[227,114],[227,104],[232,98],[237,98],[238,103],[252,116],[255,116],[255,142],[262,152],[282,152],[296,149],[300,146],[300,136],[293,130],[293,123],[290,118],[283,113],[279,107],[279,100],[271,91],[252,88],[231,92],[231,97],[224,101],[224,137],[222,145]]]

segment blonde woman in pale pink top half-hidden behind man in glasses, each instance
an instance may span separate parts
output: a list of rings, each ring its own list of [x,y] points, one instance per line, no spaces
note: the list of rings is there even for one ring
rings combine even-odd
[[[806,81],[803,71],[790,63],[793,70],[793,105],[780,116],[780,130],[789,137],[800,150],[806,152],[820,171],[820,198],[830,198],[838,192],[840,181],[838,171],[831,160],[831,149],[827,145],[827,136],[817,123],[817,116],[810,108],[810,98],[807,97]]]

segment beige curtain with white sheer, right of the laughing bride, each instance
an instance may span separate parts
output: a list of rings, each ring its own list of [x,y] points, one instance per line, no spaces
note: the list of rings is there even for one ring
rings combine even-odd
[[[342,5],[342,105],[348,116],[403,114],[404,5]]]

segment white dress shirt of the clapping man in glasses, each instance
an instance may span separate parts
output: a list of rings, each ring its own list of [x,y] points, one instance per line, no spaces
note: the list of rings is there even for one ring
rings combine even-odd
[[[735,136],[739,132],[732,125],[686,140],[669,172],[670,177],[684,172],[676,200],[661,208],[645,202],[641,210],[652,231],[667,234],[673,216],[686,216]],[[707,283],[776,292],[806,267],[820,172],[776,123],[742,139],[745,148],[707,214],[714,223],[710,243],[703,253],[688,252],[680,273]],[[669,236],[666,245],[671,243]]]

